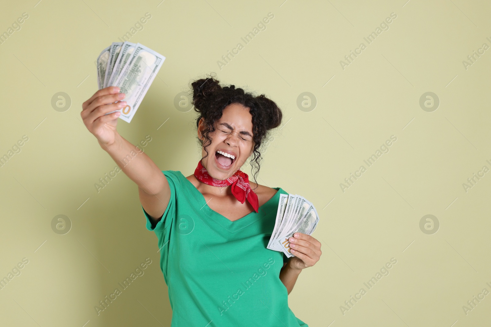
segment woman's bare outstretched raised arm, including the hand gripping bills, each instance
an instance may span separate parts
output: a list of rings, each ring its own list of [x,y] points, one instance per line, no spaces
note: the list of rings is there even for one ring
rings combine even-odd
[[[80,115],[83,124],[97,137],[101,148],[108,152],[119,168],[138,185],[141,205],[155,224],[160,221],[169,203],[169,184],[162,171],[146,153],[119,135],[116,126],[120,112],[106,115],[126,105],[125,101],[121,101],[124,94],[118,92],[119,88],[114,86],[97,91],[82,103]],[[128,158],[131,160],[127,160]]]

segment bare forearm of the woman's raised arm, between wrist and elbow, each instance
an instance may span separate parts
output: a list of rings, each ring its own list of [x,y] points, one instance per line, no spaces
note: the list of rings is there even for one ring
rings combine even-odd
[[[150,157],[121,135],[116,133],[114,143],[101,148],[108,152],[111,158],[121,168],[123,173],[133,180],[138,187],[148,194],[156,194],[164,185],[164,175]]]

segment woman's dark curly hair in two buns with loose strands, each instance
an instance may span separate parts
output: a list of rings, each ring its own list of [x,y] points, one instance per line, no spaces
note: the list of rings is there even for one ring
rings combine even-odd
[[[276,103],[264,94],[255,96],[251,93],[244,92],[241,88],[235,88],[235,85],[221,87],[219,81],[213,75],[207,75],[208,78],[200,78],[191,83],[193,89],[192,104],[194,111],[199,113],[196,118],[196,128],[199,126],[201,118],[204,120],[204,129],[202,131],[204,141],[199,142],[206,151],[204,158],[208,156],[208,146],[212,143],[209,134],[215,131],[215,123],[221,118],[223,110],[232,103],[242,104],[249,108],[252,115],[252,133],[253,133],[253,154],[250,160],[253,170],[254,182],[257,184],[256,177],[261,168],[262,159],[259,151],[261,143],[268,136],[269,130],[280,126],[283,117],[281,109]]]

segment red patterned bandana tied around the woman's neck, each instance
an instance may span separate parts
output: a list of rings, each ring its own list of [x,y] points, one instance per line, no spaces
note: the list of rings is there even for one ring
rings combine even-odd
[[[238,170],[234,175],[228,177],[227,179],[215,179],[208,174],[206,168],[201,164],[201,160],[199,160],[198,166],[194,170],[194,176],[208,185],[221,187],[232,185],[232,194],[235,196],[235,198],[241,203],[244,203],[247,199],[254,210],[258,212],[259,201],[257,200],[257,195],[250,188],[249,178],[246,173]]]

